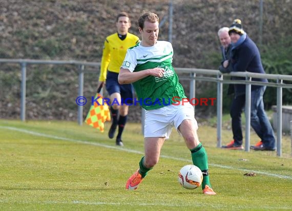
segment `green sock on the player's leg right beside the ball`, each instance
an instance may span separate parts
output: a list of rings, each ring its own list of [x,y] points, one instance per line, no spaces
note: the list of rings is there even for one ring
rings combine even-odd
[[[205,148],[201,143],[194,149],[190,150],[192,153],[192,160],[194,165],[198,166],[203,173],[203,182],[202,189],[205,188],[205,185],[211,187],[210,178],[208,173],[208,156],[205,151]]]

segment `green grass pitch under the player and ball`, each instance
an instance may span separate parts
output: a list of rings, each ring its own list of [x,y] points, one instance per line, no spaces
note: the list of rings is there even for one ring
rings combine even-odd
[[[143,155],[140,124],[126,125],[124,147],[106,132],[68,121],[0,120],[0,210],[291,210],[290,137],[276,152],[218,149],[216,129],[200,126],[212,187],[188,190],[177,182],[191,154],[173,129],[159,163],[136,191],[125,189]],[[227,143],[231,131],[223,131]],[[257,142],[252,133],[251,142]],[[244,176],[254,172],[256,176]]]

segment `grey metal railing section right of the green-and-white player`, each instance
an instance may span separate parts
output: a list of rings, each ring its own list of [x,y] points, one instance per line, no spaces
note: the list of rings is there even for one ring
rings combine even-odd
[[[279,75],[279,74],[260,74],[251,72],[231,72],[229,74],[222,74],[218,70],[207,70],[207,69],[194,69],[194,68],[176,68],[179,73],[190,73],[191,84],[192,80],[202,80],[202,81],[217,81],[217,147],[221,147],[222,140],[222,83],[232,83],[232,84],[244,84],[245,88],[245,151],[249,152],[250,147],[250,132],[251,132],[251,90],[252,85],[262,85],[267,87],[277,88],[277,155],[282,155],[282,89],[292,88],[292,84],[285,84],[285,81],[292,81],[291,75]],[[193,75],[201,74],[202,76]],[[204,75],[213,76],[211,78],[205,77]],[[235,76],[243,77],[245,80],[223,80],[223,76]],[[274,79],[277,82],[261,82],[252,81],[252,78],[266,78]],[[191,98],[195,97],[195,92],[191,92]]]

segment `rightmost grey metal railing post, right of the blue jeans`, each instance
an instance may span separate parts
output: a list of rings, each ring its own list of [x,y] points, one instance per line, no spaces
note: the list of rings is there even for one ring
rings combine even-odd
[[[277,83],[282,85],[283,80]],[[277,155],[282,156],[282,86],[277,87]]]

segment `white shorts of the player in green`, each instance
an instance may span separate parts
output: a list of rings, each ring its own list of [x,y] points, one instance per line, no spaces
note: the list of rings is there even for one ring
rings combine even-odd
[[[194,107],[189,102],[184,102],[183,105],[180,103],[177,106],[170,105],[160,109],[145,110],[144,138],[165,137],[168,139],[172,127],[174,126],[178,131],[178,126],[184,119],[193,120],[195,129],[198,129]]]

